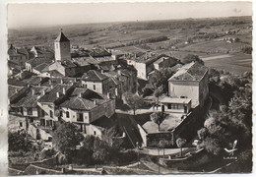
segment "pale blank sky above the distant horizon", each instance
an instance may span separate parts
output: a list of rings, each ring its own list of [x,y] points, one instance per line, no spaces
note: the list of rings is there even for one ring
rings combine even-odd
[[[252,16],[251,2],[9,4],[8,28]]]

